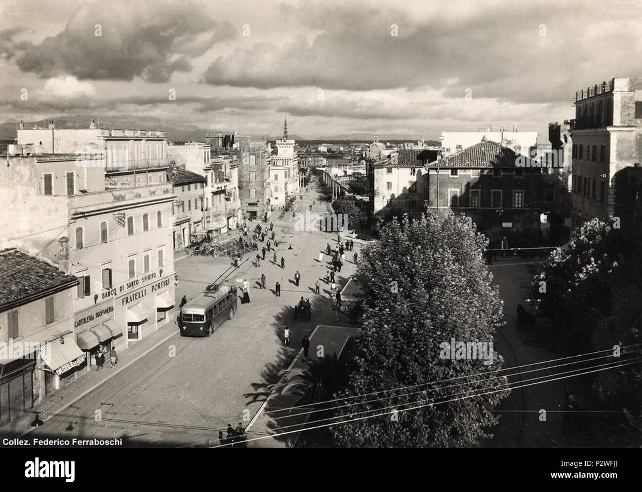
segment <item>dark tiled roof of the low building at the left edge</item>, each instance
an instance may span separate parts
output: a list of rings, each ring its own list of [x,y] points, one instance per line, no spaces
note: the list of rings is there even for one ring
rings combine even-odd
[[[0,278],[0,312],[21,299],[78,283],[75,276],[15,248],[0,250]]]

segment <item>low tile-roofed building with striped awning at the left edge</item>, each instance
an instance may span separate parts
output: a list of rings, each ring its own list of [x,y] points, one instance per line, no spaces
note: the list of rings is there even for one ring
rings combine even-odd
[[[15,248],[0,250],[0,426],[85,365],[74,335],[78,278]]]

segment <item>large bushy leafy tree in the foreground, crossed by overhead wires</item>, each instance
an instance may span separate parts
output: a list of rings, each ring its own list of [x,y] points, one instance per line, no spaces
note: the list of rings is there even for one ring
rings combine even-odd
[[[386,225],[379,241],[361,250],[355,280],[364,312],[350,353],[357,369],[338,393],[354,398],[337,415],[386,415],[331,427],[339,445],[471,446],[490,437],[497,422],[490,409],[507,391],[462,397],[503,390],[506,379],[495,372],[503,359],[442,358],[452,338],[493,341],[502,305],[482,259],[485,246],[483,235],[453,214],[428,214]],[[410,389],[395,391],[403,387]],[[403,411],[418,405],[424,407]]]

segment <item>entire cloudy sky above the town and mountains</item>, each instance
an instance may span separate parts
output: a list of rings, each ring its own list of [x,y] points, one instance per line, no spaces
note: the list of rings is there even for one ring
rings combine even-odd
[[[542,142],[575,90],[642,76],[638,0],[0,0],[0,19],[0,121],[275,136],[287,112],[308,138],[516,126]]]

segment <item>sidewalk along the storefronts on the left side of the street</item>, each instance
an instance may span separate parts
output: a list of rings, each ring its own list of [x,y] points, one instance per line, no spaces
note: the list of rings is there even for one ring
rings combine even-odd
[[[80,398],[87,393],[90,393],[120,371],[123,371],[130,366],[130,364],[137,361],[137,359],[140,359],[175,334],[178,334],[178,327],[173,321],[169,321],[167,325],[159,328],[157,332],[148,335],[141,341],[131,343],[127,350],[119,352],[116,367],[110,368],[108,364],[105,364],[104,368],[100,371],[96,371],[96,369],[93,368],[91,371],[83,369],[82,376],[69,384],[69,386],[59,389],[42,402],[37,403],[33,409],[26,411],[19,418],[4,425],[2,427],[3,436],[22,436],[30,432],[30,430],[33,429],[33,427],[31,427],[31,421],[33,421],[35,417],[35,412],[40,413],[40,420],[43,420],[46,426],[51,414],[63,412],[67,407],[73,405],[74,402],[80,400]]]

